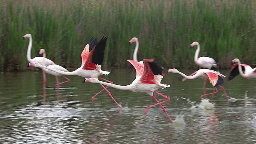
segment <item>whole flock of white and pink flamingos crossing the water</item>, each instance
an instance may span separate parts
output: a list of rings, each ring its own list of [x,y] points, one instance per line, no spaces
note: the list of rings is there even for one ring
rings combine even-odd
[[[23,36],[23,38],[24,39],[29,38],[27,59],[28,59],[28,62],[30,63],[28,66],[35,66],[42,69],[44,86],[46,84],[45,73],[48,73],[56,77],[57,84],[55,86],[59,86],[60,84],[70,81],[64,75],[77,75],[77,76],[84,77],[85,79],[83,83],[84,82],[98,83],[103,87],[103,89],[100,92],[104,90],[108,92],[109,96],[114,100],[114,102],[116,102],[116,100],[113,98],[111,93],[107,90],[107,88],[110,86],[120,90],[130,90],[132,92],[144,92],[149,94],[150,96],[152,96],[152,98],[154,98],[154,100],[156,100],[156,104],[152,106],[148,106],[146,108],[145,114],[147,113],[149,108],[160,105],[163,111],[166,113],[166,115],[170,119],[170,121],[173,122],[170,116],[168,115],[168,113],[166,112],[165,108],[162,106],[163,103],[170,101],[170,98],[156,91],[159,88],[170,87],[170,85],[161,83],[161,80],[164,77],[164,74],[162,74],[162,71],[164,68],[159,64],[157,64],[156,62],[154,62],[154,59],[143,59],[138,62],[137,60],[137,53],[138,53],[138,47],[139,47],[138,38],[134,37],[129,41],[130,44],[136,42],[136,46],[133,54],[133,60],[127,60],[132,64],[132,66],[134,66],[136,70],[136,78],[131,84],[126,86],[113,84],[113,82],[100,77],[102,74],[104,75],[110,74],[110,72],[108,71],[101,70],[107,37],[102,37],[102,39],[99,42],[97,42],[96,38],[92,38],[88,42],[88,44],[86,44],[84,50],[81,53],[81,57],[82,57],[81,67],[77,68],[72,72],[69,72],[66,68],[63,68],[62,66],[55,64],[52,60],[46,58],[46,52],[44,49],[41,49],[39,52],[39,54],[43,55],[42,57],[38,56],[32,59],[31,58],[32,36],[31,34],[26,34]],[[213,58],[205,57],[205,56],[198,58],[199,52],[200,52],[200,44],[198,42],[193,42],[192,44],[190,44],[190,46],[191,47],[197,46],[194,62],[198,66],[202,67],[203,69],[199,69],[196,72],[190,74],[189,76],[178,71],[175,68],[169,69],[168,73],[172,72],[172,73],[180,74],[181,76],[184,77],[182,81],[186,79],[202,78],[204,79],[203,88],[205,88],[206,81],[207,79],[209,79],[210,83],[212,84],[212,86],[215,88],[216,91],[206,94],[204,89],[204,94],[202,94],[200,98],[206,97],[209,94],[218,93],[216,86],[219,86],[220,88],[222,88],[222,90],[224,91],[224,94],[226,95],[226,98],[229,100],[229,97],[226,94],[225,89],[223,88],[223,86],[221,86],[223,84],[223,78],[225,78],[226,76],[224,76],[220,72],[211,70],[212,67],[217,67],[215,60]],[[232,80],[238,74],[240,74],[244,78],[256,78],[256,68],[251,68],[247,64],[241,64],[238,58],[235,58],[234,60],[232,60],[232,62],[236,64],[232,66],[228,80]],[[58,76],[63,76],[64,78],[66,78],[66,81],[59,83]],[[98,78],[106,82],[100,81],[98,80]],[[107,87],[104,87],[103,85],[106,85]],[[95,96],[97,96],[100,92],[98,92],[92,97],[93,102],[94,102]],[[154,96],[154,92],[166,98],[166,100],[159,102]],[[120,104],[118,104],[118,102],[116,102],[116,104],[121,109],[123,108]]]

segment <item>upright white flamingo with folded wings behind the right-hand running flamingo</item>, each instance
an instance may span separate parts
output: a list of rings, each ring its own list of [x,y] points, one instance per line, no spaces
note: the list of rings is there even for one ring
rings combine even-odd
[[[192,48],[193,46],[197,46],[196,47],[196,52],[195,52],[195,57],[194,57],[194,62],[196,63],[196,65],[202,67],[202,68],[208,68],[208,69],[212,69],[212,67],[217,68],[217,64],[215,62],[215,60],[213,58],[207,57],[207,56],[201,56],[200,58],[198,58],[199,56],[199,52],[200,52],[200,44],[199,42],[193,42],[192,44],[190,44],[190,47]],[[190,74],[189,76],[192,76],[193,74]],[[186,80],[186,78],[182,79],[182,82]],[[204,93],[205,92],[205,86],[206,86],[206,81],[207,79],[204,79]]]

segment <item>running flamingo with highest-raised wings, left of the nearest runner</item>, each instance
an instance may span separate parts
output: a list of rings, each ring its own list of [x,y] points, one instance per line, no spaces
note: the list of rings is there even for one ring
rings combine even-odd
[[[82,76],[84,78],[90,78],[90,77],[100,78],[107,82],[113,83],[109,80],[106,80],[106,79],[100,77],[102,74],[104,74],[104,75],[110,74],[110,72],[108,72],[108,71],[101,70],[101,64],[102,64],[103,58],[104,58],[104,50],[106,47],[106,41],[107,41],[107,37],[102,37],[102,39],[98,43],[97,43],[96,38],[92,38],[88,42],[88,44],[86,44],[86,46],[84,47],[84,50],[81,53],[81,57],[82,57],[81,67],[77,68],[76,70],[74,70],[72,72],[64,72],[64,71],[56,70],[54,68],[42,66],[40,63],[36,63],[36,62],[30,62],[29,66],[35,66],[38,68],[46,68],[48,70],[52,70],[54,72],[58,72],[63,75],[77,75],[77,76]],[[103,90],[106,90],[106,92],[108,92],[109,96],[114,100],[114,102],[120,108],[122,108],[122,106],[120,106],[120,104],[118,104],[118,102],[116,102],[116,100],[113,98],[111,93],[107,90],[108,87],[105,88],[102,84],[100,84],[100,85],[104,88]],[[103,90],[101,90],[100,92],[102,92]],[[92,97],[92,102],[94,102],[94,97],[97,96],[100,92],[98,92],[97,94],[95,94]]]

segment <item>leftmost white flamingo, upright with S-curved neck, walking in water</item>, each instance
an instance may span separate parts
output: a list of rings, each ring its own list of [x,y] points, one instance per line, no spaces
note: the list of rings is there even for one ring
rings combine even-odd
[[[44,66],[48,66],[50,64],[55,64],[52,60],[48,59],[48,58],[43,58],[41,56],[37,56],[34,57],[33,59],[31,59],[31,49],[32,49],[32,35],[31,34],[25,34],[23,36],[23,39],[25,40],[25,38],[29,38],[29,42],[28,42],[28,51],[27,51],[27,60],[28,62],[38,62]],[[43,83],[45,86],[46,83],[46,76],[45,76],[45,71],[42,70],[42,74],[43,74]]]

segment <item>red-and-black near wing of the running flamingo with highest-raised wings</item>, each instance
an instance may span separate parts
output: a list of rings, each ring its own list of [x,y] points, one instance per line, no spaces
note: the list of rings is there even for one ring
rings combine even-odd
[[[107,37],[102,37],[102,39],[90,50],[90,54],[83,66],[84,70],[95,70],[97,65],[101,65],[104,59],[104,51],[106,47]]]

